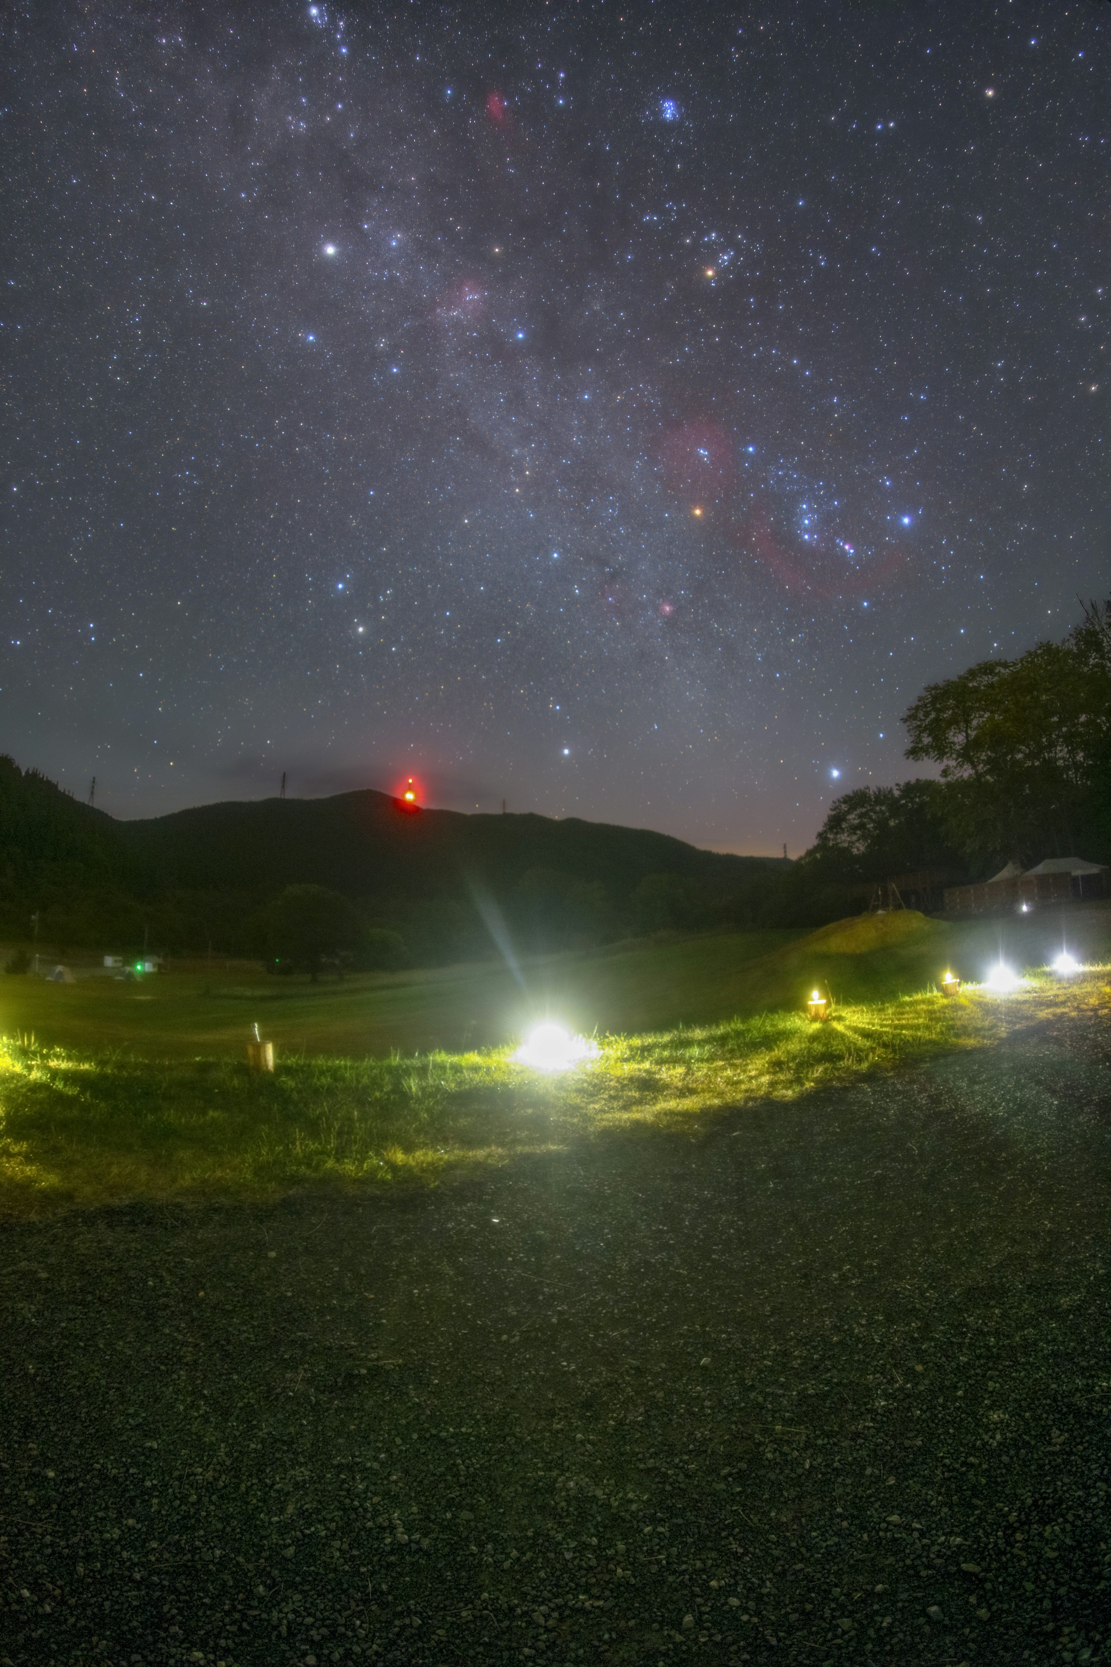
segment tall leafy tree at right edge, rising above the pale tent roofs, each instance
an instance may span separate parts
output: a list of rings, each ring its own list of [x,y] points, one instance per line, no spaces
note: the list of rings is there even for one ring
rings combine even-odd
[[[946,823],[969,854],[1104,855],[1111,839],[1111,603],[1064,642],[929,683],[908,758],[941,765]]]

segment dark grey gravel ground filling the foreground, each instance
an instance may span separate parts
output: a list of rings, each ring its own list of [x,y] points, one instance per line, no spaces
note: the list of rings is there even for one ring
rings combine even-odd
[[[1104,1660],[1109,1059],[0,1225],[0,1662]]]

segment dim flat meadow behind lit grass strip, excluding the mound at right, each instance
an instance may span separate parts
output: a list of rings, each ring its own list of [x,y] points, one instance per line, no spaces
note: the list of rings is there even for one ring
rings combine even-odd
[[[743,1010],[745,970],[801,937],[745,932],[596,954],[363,974],[311,985],[258,965],[167,972],[142,984],[0,979],[0,1034],[50,1047],[123,1047],[147,1059],[230,1054],[258,1024],[280,1055],[361,1057],[498,1047],[540,1014],[585,1030],[658,1030]],[[755,985],[753,985],[755,987]]]

